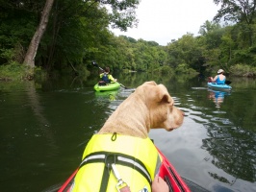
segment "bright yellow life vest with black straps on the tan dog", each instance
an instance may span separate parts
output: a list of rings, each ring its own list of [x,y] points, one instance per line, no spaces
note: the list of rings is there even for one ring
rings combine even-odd
[[[125,154],[124,154],[125,153]],[[115,163],[120,178],[132,192],[151,191],[162,158],[153,142],[120,134],[94,134],[88,143],[72,192],[115,192],[117,180],[111,168]]]

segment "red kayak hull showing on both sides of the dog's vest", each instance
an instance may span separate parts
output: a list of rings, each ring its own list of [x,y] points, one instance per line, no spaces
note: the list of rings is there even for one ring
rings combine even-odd
[[[173,192],[191,192],[184,180],[179,176],[174,167],[167,160],[166,156],[158,149],[159,154],[163,157],[163,163],[160,167],[159,176],[166,180],[169,191]],[[64,182],[58,192],[70,192],[70,187],[75,179],[78,169]]]

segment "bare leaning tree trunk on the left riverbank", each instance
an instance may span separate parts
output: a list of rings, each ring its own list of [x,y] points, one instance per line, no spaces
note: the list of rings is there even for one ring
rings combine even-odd
[[[33,38],[31,39],[28,51],[27,51],[25,59],[23,61],[25,64],[31,66],[32,68],[35,67],[35,58],[36,58],[36,55],[38,52],[38,45],[39,45],[41,37],[43,36],[43,34],[46,30],[47,23],[49,20],[49,14],[52,10],[53,3],[54,3],[54,0],[46,0],[45,6],[44,6],[42,14],[41,14],[38,29],[37,29],[35,35],[33,36]]]

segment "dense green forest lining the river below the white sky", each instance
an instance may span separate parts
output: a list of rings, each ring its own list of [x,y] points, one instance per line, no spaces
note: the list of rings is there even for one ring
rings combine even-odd
[[[0,80],[33,79],[38,72],[89,75],[91,60],[112,70],[161,74],[223,68],[256,77],[256,2],[214,0],[213,21],[166,46],[115,36],[138,25],[140,0],[1,0]],[[13,75],[14,74],[14,75]],[[13,76],[15,78],[13,78]]]

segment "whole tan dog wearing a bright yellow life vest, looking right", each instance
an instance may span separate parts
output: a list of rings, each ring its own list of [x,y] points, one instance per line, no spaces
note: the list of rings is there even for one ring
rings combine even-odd
[[[161,157],[148,132],[172,131],[183,118],[166,86],[141,84],[90,139],[71,191],[151,191]]]

